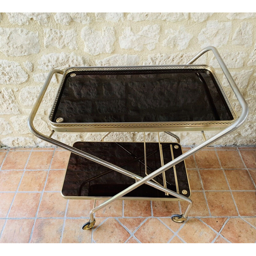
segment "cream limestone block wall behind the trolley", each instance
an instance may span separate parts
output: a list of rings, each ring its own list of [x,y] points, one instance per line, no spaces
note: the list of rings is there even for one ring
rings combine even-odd
[[[70,66],[185,64],[202,48],[217,47],[249,103],[246,123],[216,145],[256,144],[256,13],[1,13],[0,146],[50,146],[28,130],[27,118],[47,73]],[[238,114],[240,108],[212,53],[197,60],[216,68]],[[53,77],[35,120],[46,134],[60,77]],[[210,136],[217,132],[206,132]],[[183,145],[200,132],[177,132]],[[55,133],[68,144],[102,133]],[[161,140],[170,140],[160,133]],[[106,140],[142,140],[143,133],[111,133]],[[156,133],[146,133],[157,140]]]

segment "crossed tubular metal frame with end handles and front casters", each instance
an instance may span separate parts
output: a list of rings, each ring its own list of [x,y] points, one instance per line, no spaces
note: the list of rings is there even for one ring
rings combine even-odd
[[[150,180],[152,180],[153,178],[155,178],[157,175],[163,173],[164,171],[168,170],[169,168],[171,168],[172,166],[184,161],[186,158],[188,158],[189,156],[192,156],[193,154],[195,154],[196,152],[202,150],[203,148],[209,146],[210,144],[212,144],[213,142],[219,140],[220,138],[224,137],[225,135],[227,135],[228,133],[236,130],[241,124],[244,123],[247,115],[248,115],[248,104],[247,102],[244,100],[244,97],[243,95],[241,94],[241,92],[239,91],[235,81],[233,80],[232,76],[230,75],[229,71],[228,71],[228,68],[226,67],[225,63],[223,62],[222,58],[220,57],[220,54],[219,52],[217,51],[217,49],[213,46],[209,46],[209,47],[206,47],[204,48],[201,52],[199,52],[195,57],[193,57],[186,65],[189,65],[189,64],[192,64],[196,59],[198,59],[200,56],[202,56],[205,52],[208,52],[208,51],[212,51],[216,57],[216,59],[218,60],[219,64],[220,64],[220,67],[222,68],[233,92],[235,93],[236,95],[236,98],[237,100],[239,101],[241,107],[242,107],[242,113],[240,115],[240,117],[233,123],[231,124],[230,126],[228,126],[227,128],[225,128],[224,130],[221,130],[219,133],[213,135],[211,138],[207,139],[206,141],[202,142],[201,144],[199,144],[198,146],[188,150],[187,152],[183,153],[182,155],[178,156],[177,158],[175,158],[174,160],[172,160],[171,162],[167,163],[167,164],[164,164],[162,167],[160,167],[158,170],[150,173],[148,176],[142,178],[140,176],[137,176],[137,175],[134,175],[132,172],[128,172],[114,164],[111,164],[111,163],[108,163],[98,157],[95,157],[95,156],[92,156],[90,154],[87,154],[79,149],[76,149],[74,147],[71,147],[65,143],[62,143],[58,140],[54,140],[52,138],[50,138],[49,136],[46,136],[40,132],[38,132],[34,125],[33,125],[33,121],[34,121],[34,118],[36,116],[36,113],[37,113],[37,110],[40,106],[40,103],[42,102],[43,100],[43,97],[44,97],[44,94],[47,90],[47,87],[51,81],[51,78],[53,76],[53,74],[55,73],[60,73],[60,74],[63,74],[63,71],[62,70],[52,70],[45,83],[44,83],[44,86],[42,88],[42,91],[40,92],[39,96],[38,96],[38,99],[29,115],[29,118],[28,118],[28,127],[29,127],[29,130],[30,132],[32,132],[32,134],[34,134],[36,137],[42,139],[42,140],[45,140],[46,142],[49,142],[49,143],[52,143],[58,147],[61,147],[61,148],[64,148],[64,149],[67,149],[68,151],[74,153],[74,154],[77,154],[78,156],[82,156],[82,157],[85,157],[91,161],[94,161],[98,164],[101,164],[103,166],[106,166],[114,171],[117,171],[117,172],[121,172],[129,177],[132,177],[134,179],[137,179],[139,181],[137,181],[136,183],[132,184],[130,187],[124,189],[123,191],[121,191],[120,193],[116,194],[115,196],[109,198],[106,202],[100,204],[99,206],[93,208],[91,211],[90,211],[90,221],[89,221],[89,224],[88,226],[84,226],[85,229],[88,229],[88,228],[92,228],[94,223],[95,223],[95,219],[93,217],[93,213],[100,210],[101,208],[103,208],[104,206],[110,204],[111,202],[115,201],[116,199],[126,195],[127,193],[129,193],[130,191],[132,191],[133,189],[135,188],[138,188],[139,186],[141,186],[142,184],[147,184],[147,185],[150,185],[154,188],[157,188],[161,191],[164,191],[165,193],[168,193],[170,195],[173,195],[173,196],[176,196],[177,198],[181,199],[181,200],[185,200],[189,203],[185,213],[181,216],[180,218],[180,215],[176,215],[176,216],[173,216],[173,220],[176,221],[176,222],[181,222],[184,219],[187,218],[188,216],[188,212],[190,211],[191,209],[191,206],[192,206],[192,201],[190,199],[188,199],[187,197],[185,196],[182,196],[180,194],[177,194],[167,188],[164,188],[163,186],[159,186],[158,184],[154,183],[154,182],[151,182]]]

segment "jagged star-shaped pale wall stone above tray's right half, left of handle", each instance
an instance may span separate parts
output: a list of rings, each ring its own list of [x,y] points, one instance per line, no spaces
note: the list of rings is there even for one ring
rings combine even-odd
[[[180,26],[178,30],[167,29],[165,30],[167,38],[164,40],[163,45],[173,48],[176,44],[178,50],[185,50],[188,47],[189,41],[192,39],[192,35],[186,31],[185,26]]]

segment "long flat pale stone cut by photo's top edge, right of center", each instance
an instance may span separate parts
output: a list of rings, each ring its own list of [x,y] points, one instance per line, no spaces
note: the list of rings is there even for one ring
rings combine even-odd
[[[130,12],[127,15],[127,20],[167,20],[177,22],[188,20],[188,12]]]

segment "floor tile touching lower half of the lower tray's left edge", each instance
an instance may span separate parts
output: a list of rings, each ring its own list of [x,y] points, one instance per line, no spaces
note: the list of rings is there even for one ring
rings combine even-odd
[[[49,171],[44,191],[61,191],[65,173],[65,170]]]

